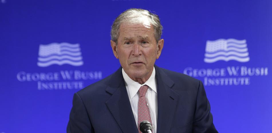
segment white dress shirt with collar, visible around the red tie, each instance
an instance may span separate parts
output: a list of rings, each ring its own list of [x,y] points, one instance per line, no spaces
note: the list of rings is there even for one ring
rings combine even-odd
[[[123,78],[125,80],[127,94],[129,96],[130,105],[132,108],[132,112],[135,118],[136,125],[138,126],[138,100],[139,100],[139,92],[141,86],[147,85],[148,89],[145,94],[145,99],[148,104],[148,108],[151,114],[151,120],[153,125],[153,133],[157,132],[157,84],[155,80],[155,68],[153,67],[152,74],[150,78],[144,83],[139,84],[135,82],[125,73],[124,69],[122,68]]]

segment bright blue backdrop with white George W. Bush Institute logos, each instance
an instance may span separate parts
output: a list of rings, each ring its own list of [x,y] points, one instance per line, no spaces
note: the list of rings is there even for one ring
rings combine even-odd
[[[66,132],[73,94],[120,67],[129,8],[159,15],[155,64],[202,80],[220,133],[272,132],[271,0],[0,0],[0,133]]]

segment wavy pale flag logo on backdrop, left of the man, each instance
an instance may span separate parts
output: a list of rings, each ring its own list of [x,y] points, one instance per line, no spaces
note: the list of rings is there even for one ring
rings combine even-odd
[[[83,65],[79,44],[50,43],[40,45],[37,65],[47,67],[53,64]]]

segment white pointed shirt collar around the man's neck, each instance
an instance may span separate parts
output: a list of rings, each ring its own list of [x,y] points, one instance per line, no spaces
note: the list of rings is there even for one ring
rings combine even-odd
[[[138,82],[132,80],[129,78],[129,76],[125,73],[124,69],[122,68],[122,74],[123,78],[125,80],[126,85],[128,86],[128,94],[130,95],[130,99],[133,98],[138,90],[140,89],[141,86],[147,85],[151,90],[157,93],[157,88],[156,88],[156,82],[155,82],[155,68],[153,67],[153,71],[149,79],[144,83],[144,84],[139,84]]]

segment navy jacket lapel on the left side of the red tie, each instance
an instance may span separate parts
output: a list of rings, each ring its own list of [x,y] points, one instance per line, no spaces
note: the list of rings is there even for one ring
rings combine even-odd
[[[106,105],[123,133],[138,133],[121,67],[111,77],[106,92],[112,94]]]

